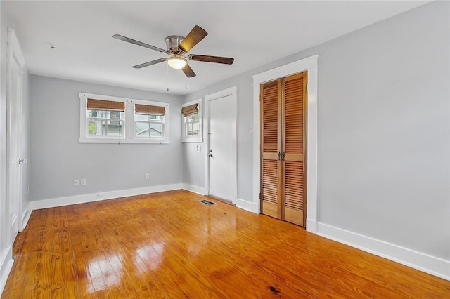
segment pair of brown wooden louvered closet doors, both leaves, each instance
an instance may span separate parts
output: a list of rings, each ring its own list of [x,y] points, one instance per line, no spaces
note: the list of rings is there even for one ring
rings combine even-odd
[[[262,213],[304,226],[307,73],[261,85]]]

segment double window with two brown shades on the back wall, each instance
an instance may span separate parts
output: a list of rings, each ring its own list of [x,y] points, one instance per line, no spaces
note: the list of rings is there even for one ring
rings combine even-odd
[[[169,143],[169,104],[79,93],[80,137],[86,143]]]

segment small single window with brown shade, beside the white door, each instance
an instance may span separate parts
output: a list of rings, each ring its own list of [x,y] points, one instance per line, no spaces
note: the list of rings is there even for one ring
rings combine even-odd
[[[181,106],[183,142],[203,142],[201,99]]]

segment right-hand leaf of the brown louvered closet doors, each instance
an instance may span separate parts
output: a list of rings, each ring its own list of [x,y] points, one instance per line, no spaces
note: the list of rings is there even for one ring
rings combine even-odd
[[[283,79],[284,220],[304,225],[306,73]]]

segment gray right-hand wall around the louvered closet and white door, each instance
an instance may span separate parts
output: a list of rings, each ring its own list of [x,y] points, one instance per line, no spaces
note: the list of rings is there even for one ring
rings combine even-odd
[[[238,197],[252,201],[252,75],[319,54],[319,222],[449,260],[449,27],[449,3],[432,2],[184,101],[238,86]]]

